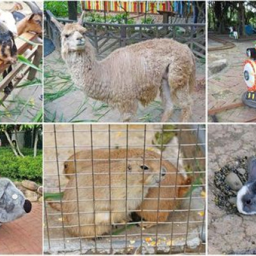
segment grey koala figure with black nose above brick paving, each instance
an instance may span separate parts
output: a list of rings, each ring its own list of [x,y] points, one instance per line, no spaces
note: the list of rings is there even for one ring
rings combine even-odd
[[[0,225],[17,220],[32,209],[31,202],[6,178],[0,179]]]

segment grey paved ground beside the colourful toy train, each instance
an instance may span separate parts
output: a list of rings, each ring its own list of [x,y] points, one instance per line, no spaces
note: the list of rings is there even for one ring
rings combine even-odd
[[[216,35],[214,35],[216,36]],[[209,52],[209,63],[212,60],[227,60],[227,67],[208,79],[208,109],[220,108],[229,104],[241,102],[247,91],[243,79],[243,63],[246,60],[245,51],[254,46],[255,38],[248,40],[230,40],[228,36],[218,36],[236,47],[227,50]],[[209,47],[220,46],[219,42],[209,39]],[[223,111],[217,115],[218,122],[244,122],[256,117],[256,109],[247,106]],[[212,118],[209,117],[209,122]]]

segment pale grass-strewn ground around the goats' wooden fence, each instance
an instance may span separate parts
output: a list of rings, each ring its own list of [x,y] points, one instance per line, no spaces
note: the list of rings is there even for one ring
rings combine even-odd
[[[1,1],[0,9],[10,10],[13,6],[13,1]],[[43,2],[36,1],[36,4],[43,9]],[[22,3],[23,9],[20,10],[21,13],[25,15],[31,13],[29,7]],[[40,74],[36,74],[38,79]],[[26,77],[22,80],[21,84],[26,83]],[[2,97],[3,93],[0,93]],[[42,84],[38,86],[25,86],[22,88],[15,88],[11,95],[4,100],[4,107],[0,107],[0,121],[1,122],[31,122],[33,117],[36,116],[36,113],[39,109],[42,108],[42,100],[40,100],[40,95],[42,95]]]

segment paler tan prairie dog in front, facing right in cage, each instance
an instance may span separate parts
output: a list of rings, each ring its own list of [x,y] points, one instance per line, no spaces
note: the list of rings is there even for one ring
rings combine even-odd
[[[150,186],[159,186],[165,178],[166,170],[163,166],[160,172],[160,159],[150,157],[152,152],[146,151],[143,160],[143,155],[134,157],[129,150],[127,161],[125,157],[116,157],[110,166],[109,160],[96,160],[102,156],[100,152],[93,150],[93,164],[77,161],[77,173],[73,170],[63,193],[64,221],[76,237],[108,234],[111,225],[126,222],[131,212],[138,209]],[[114,152],[119,156],[119,150],[113,150],[112,155]],[[90,152],[86,155],[90,156]],[[71,168],[70,163],[68,166]],[[66,170],[70,170],[68,166]]]

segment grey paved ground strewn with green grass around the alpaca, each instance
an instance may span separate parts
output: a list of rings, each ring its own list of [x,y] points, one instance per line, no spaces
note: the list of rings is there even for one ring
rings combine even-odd
[[[197,79],[205,77],[205,64],[198,61]],[[54,51],[44,59],[44,93],[60,93],[61,97],[45,102],[45,122],[122,122],[120,113],[109,108],[103,102],[90,99],[78,90],[74,90],[68,70],[61,60],[60,52]],[[193,92],[194,105],[190,122],[205,122],[205,86]],[[46,97],[45,97],[46,99]],[[163,108],[159,96],[146,108],[139,105],[136,122],[160,122]],[[175,109],[170,122],[180,121],[180,109]]]

